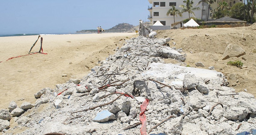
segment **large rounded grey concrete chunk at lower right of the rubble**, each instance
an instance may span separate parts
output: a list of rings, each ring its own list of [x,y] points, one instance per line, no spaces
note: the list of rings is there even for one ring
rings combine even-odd
[[[248,110],[244,107],[232,107],[224,113],[224,117],[229,120],[242,121],[248,115]]]

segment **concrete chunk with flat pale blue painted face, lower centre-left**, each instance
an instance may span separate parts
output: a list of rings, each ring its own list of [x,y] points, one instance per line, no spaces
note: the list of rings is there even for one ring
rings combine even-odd
[[[97,113],[97,116],[92,120],[94,122],[107,122],[111,119],[115,119],[115,115],[107,110]]]

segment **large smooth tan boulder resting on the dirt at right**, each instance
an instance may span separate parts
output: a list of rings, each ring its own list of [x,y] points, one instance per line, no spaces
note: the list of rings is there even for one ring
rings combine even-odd
[[[233,45],[233,44],[229,44],[222,56],[222,60],[231,58],[231,57],[240,57],[242,55],[245,55],[245,50],[242,49],[240,46],[238,45]]]

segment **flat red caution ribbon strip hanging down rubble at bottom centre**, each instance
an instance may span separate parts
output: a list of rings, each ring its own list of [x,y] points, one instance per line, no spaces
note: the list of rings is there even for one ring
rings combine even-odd
[[[147,134],[147,122],[146,122],[146,115],[144,114],[147,106],[148,106],[149,100],[146,99],[141,105],[140,105],[140,114],[139,114],[139,120],[142,122],[142,126],[140,128],[140,134],[146,135]]]

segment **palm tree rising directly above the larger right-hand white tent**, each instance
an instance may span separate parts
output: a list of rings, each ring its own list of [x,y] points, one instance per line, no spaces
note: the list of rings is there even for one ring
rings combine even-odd
[[[199,10],[199,7],[194,7],[194,1],[193,0],[184,0],[183,3],[186,3],[185,5],[180,5],[180,7],[182,7],[183,9],[180,11],[181,13],[184,12],[188,12],[189,13],[189,19],[190,19],[190,13],[192,13],[195,16],[195,13],[193,12],[193,10]]]

